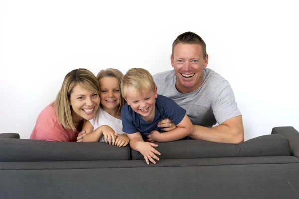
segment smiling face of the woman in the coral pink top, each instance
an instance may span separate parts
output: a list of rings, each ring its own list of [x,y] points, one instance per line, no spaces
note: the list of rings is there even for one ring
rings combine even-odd
[[[100,98],[97,93],[87,91],[80,85],[75,85],[70,95],[73,122],[94,118],[99,109]]]

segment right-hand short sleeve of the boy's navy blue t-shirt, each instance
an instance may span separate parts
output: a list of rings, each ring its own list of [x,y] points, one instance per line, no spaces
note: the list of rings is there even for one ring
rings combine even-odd
[[[165,115],[175,124],[179,124],[185,117],[186,110],[175,101],[168,99],[163,103]]]

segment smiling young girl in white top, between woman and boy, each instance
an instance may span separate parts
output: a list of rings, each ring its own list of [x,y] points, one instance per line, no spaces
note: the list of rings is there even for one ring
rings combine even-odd
[[[97,79],[100,84],[100,117],[85,121],[83,129],[86,135],[83,142],[106,142],[110,145],[126,146],[129,138],[122,131],[121,109],[124,98],[120,90],[124,75],[117,69],[101,70]]]

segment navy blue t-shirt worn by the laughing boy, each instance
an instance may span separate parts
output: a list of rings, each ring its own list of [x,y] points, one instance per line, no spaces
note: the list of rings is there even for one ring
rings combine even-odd
[[[151,131],[164,132],[157,125],[159,121],[169,118],[175,125],[179,124],[185,117],[186,110],[177,105],[166,96],[158,95],[155,104],[155,115],[152,122],[145,121],[138,113],[134,112],[127,103],[122,108],[123,131],[125,133],[136,133],[145,137]]]

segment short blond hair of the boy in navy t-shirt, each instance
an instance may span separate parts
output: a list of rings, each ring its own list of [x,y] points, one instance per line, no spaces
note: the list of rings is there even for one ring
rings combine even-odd
[[[156,84],[152,75],[146,69],[132,68],[124,75],[121,81],[123,97],[126,98],[129,92],[149,89],[155,92]]]

